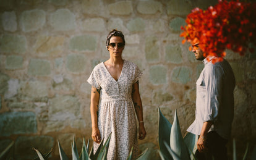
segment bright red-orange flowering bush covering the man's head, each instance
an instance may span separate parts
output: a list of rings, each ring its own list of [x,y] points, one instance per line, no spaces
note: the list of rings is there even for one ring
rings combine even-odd
[[[226,48],[242,56],[249,43],[256,44],[256,3],[219,0],[206,11],[193,9],[186,23],[182,43],[200,42],[204,56],[216,56],[216,61],[222,61]]]

